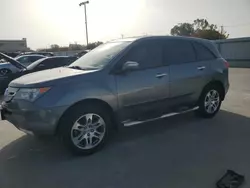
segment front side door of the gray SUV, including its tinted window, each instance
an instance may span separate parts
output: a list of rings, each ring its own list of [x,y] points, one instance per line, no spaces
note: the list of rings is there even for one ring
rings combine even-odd
[[[122,58],[139,64],[137,70],[116,75],[118,103],[122,121],[161,113],[169,97],[169,67],[162,63],[160,41],[136,44]]]

